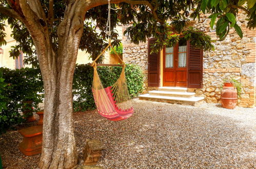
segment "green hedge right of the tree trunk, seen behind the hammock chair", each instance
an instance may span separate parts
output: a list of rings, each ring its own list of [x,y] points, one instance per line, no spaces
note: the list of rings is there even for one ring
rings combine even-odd
[[[122,67],[98,67],[103,86],[112,86],[119,78]],[[128,91],[131,97],[136,97],[143,91],[143,73],[139,66],[126,65],[125,74]],[[74,111],[95,109],[92,95],[93,68],[89,65],[77,65],[73,80],[73,107]]]

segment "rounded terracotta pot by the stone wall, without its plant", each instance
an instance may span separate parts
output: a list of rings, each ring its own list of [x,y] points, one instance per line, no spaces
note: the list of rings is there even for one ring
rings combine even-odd
[[[234,109],[238,102],[238,91],[235,87],[224,86],[221,91],[221,104],[223,108]]]

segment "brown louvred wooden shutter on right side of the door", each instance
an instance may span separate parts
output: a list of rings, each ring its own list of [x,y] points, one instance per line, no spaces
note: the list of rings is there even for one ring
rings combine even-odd
[[[203,50],[188,42],[188,88],[203,87]]]

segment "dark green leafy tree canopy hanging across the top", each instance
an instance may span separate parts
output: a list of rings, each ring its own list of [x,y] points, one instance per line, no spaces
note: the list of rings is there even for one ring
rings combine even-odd
[[[41,25],[47,25],[52,46],[58,48],[57,27],[64,18],[66,0],[56,0],[53,5],[53,14],[50,12],[49,1],[40,0],[42,8],[46,13],[47,20],[39,19]],[[36,64],[36,50],[33,40],[25,25],[15,18],[11,18],[1,13],[1,7],[11,8],[9,3],[15,3],[14,0],[2,0],[0,2],[0,46],[5,45],[4,33],[7,24],[13,29],[12,37],[18,42],[10,51],[12,57],[16,57],[19,51],[25,53],[25,64],[29,62]],[[111,0],[112,3],[116,2]],[[117,39],[117,25],[129,25],[124,32],[128,35],[132,43],[139,44],[146,41],[149,37],[156,37],[158,40],[155,49],[161,49],[164,45],[175,43],[179,40],[179,34],[183,34],[185,39],[192,40],[191,44],[204,48],[212,49],[210,37],[205,33],[194,28],[184,30],[188,21],[191,19],[200,19],[200,13],[211,13],[210,27],[216,22],[216,34],[220,40],[225,39],[230,28],[234,28],[242,38],[243,33],[236,20],[238,11],[246,13],[245,18],[247,27],[254,29],[256,26],[256,1],[253,0],[149,0],[149,1],[131,1],[124,0],[124,3],[111,4],[111,38],[114,46],[119,46],[120,40]],[[13,4],[12,4],[13,5]],[[80,43],[80,49],[87,51],[94,59],[107,45],[106,24],[107,24],[107,5],[96,6],[86,12],[84,31]],[[52,15],[52,16],[51,16]],[[173,35],[173,34],[178,35]]]

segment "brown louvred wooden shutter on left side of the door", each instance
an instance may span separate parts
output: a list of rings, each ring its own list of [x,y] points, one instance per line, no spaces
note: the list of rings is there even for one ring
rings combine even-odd
[[[159,87],[160,82],[160,52],[151,53],[156,38],[148,39],[148,86]]]

